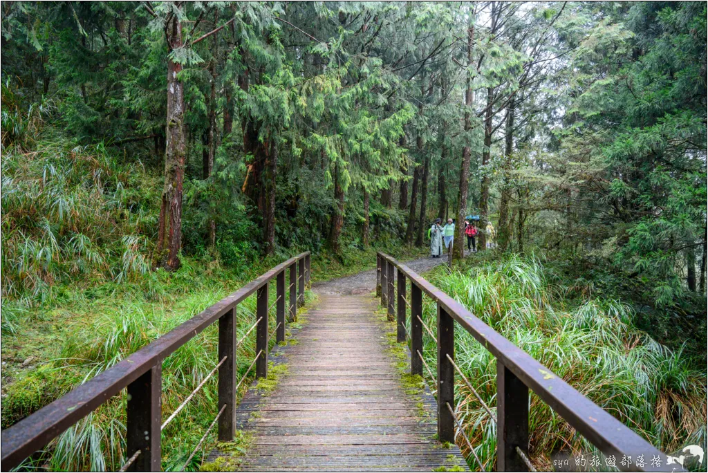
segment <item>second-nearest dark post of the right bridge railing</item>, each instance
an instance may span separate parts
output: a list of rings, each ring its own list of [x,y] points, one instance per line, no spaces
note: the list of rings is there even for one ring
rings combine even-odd
[[[438,440],[455,443],[455,368],[446,355],[455,360],[455,319],[438,304]]]

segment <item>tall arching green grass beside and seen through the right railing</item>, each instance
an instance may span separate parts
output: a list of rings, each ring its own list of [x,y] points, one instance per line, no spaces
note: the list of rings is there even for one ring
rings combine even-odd
[[[507,256],[452,274],[438,268],[430,280],[657,448],[705,448],[706,372],[692,370],[681,351],[671,351],[636,329],[627,304],[598,298],[569,304],[562,297],[564,288],[549,282],[534,257]],[[433,304],[426,304],[424,314],[434,329]],[[427,335],[425,340],[426,361],[434,366],[435,341]],[[455,332],[455,349],[458,365],[494,406],[494,357],[464,330]],[[492,469],[496,426],[462,382],[456,397],[476,454]],[[530,455],[541,469],[552,468],[556,453],[595,451],[535,394],[529,424]],[[472,461],[470,466],[477,467]]]

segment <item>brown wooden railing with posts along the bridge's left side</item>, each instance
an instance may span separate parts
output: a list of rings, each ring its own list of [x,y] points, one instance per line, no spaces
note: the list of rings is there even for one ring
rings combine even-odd
[[[295,269],[297,266],[296,278]],[[285,271],[290,273],[290,321],[297,316],[297,305],[304,304],[304,288],[309,283],[309,251],[280,263],[231,295],[224,297],[185,323],[157,338],[139,351],[72,389],[34,414],[23,418],[2,432],[1,468],[3,471],[19,465],[25,458],[45,447],[57,435],[94,411],[111,397],[127,388],[127,449],[133,462],[128,471],[159,471],[161,467],[161,372],[162,361],[219,321],[219,348],[215,358],[219,366],[218,406],[225,409],[219,417],[219,440],[232,440],[236,429],[236,305],[254,292],[258,293],[256,308],[256,377],[268,374],[268,285],[276,278],[279,297],[276,304],[277,341],[285,339]],[[297,283],[297,300],[295,285]],[[140,454],[135,454],[140,451]]]

